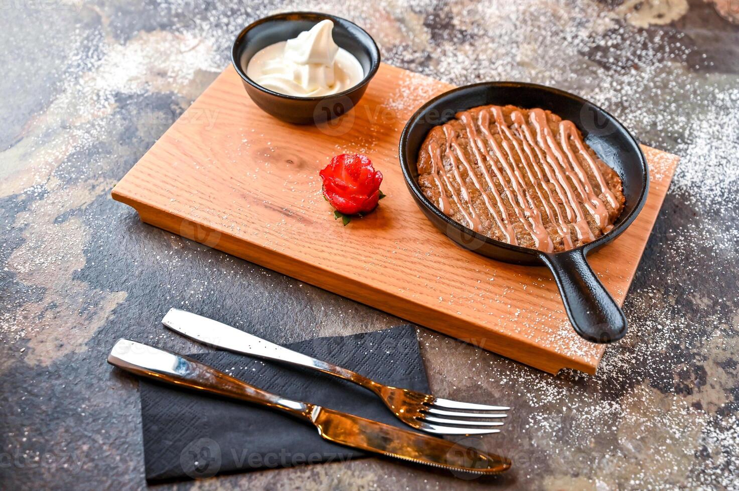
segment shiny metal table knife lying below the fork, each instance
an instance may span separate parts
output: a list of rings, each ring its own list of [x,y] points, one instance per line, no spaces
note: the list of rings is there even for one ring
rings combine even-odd
[[[511,461],[505,457],[309,402],[287,399],[189,357],[136,341],[118,340],[108,356],[108,363],[160,382],[284,411],[314,425],[324,439],[347,447],[466,473],[495,474],[511,467]]]

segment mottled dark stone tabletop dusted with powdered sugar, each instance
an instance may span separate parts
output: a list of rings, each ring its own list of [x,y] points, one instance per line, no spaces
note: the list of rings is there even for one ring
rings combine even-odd
[[[722,0],[727,16],[739,2]],[[110,190],[280,10],[350,18],[384,60],[451,83],[583,95],[682,158],[593,377],[551,377],[419,329],[432,388],[514,407],[493,479],[365,459],[202,489],[738,489],[739,26],[710,1],[0,1],[0,488],[146,486],[118,337],[194,351],[171,306],[287,342],[400,321],[139,222]]]

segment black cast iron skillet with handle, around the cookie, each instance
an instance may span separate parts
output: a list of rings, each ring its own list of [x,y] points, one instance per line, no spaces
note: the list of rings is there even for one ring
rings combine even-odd
[[[514,246],[480,235],[441,213],[418,185],[418,149],[434,126],[454,118],[457,111],[485,104],[549,109],[571,120],[582,131],[585,142],[607,165],[616,170],[624,185],[626,205],[610,232],[596,241],[562,253]],[[554,279],[575,331],[594,343],[611,343],[626,334],[624,313],[609,295],[585,255],[602,247],[634,221],[647,199],[647,161],[636,140],[615,117],[587,100],[562,90],[522,82],[484,82],[450,90],[429,100],[403,129],[400,142],[403,176],[412,196],[426,216],[449,238],[466,249],[515,264],[544,264]]]

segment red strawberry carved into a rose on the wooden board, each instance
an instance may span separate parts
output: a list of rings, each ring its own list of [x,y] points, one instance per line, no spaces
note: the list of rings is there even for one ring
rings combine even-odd
[[[385,195],[380,190],[382,174],[375,171],[365,155],[341,154],[321,171],[323,194],[336,208],[334,216],[342,217],[344,225],[350,216],[369,213]]]

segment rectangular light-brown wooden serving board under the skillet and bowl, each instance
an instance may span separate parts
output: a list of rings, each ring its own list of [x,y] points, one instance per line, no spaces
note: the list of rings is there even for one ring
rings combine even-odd
[[[450,89],[381,65],[361,103],[317,128],[257,108],[229,66],[134,165],[112,196],[149,224],[556,373],[594,373],[603,345],[578,337],[544,267],[457,247],[420,212],[403,181],[398,139],[410,115]],[[644,147],[647,204],[590,264],[623,301],[678,157]],[[347,227],[321,196],[319,170],[367,154],[387,195]]]

